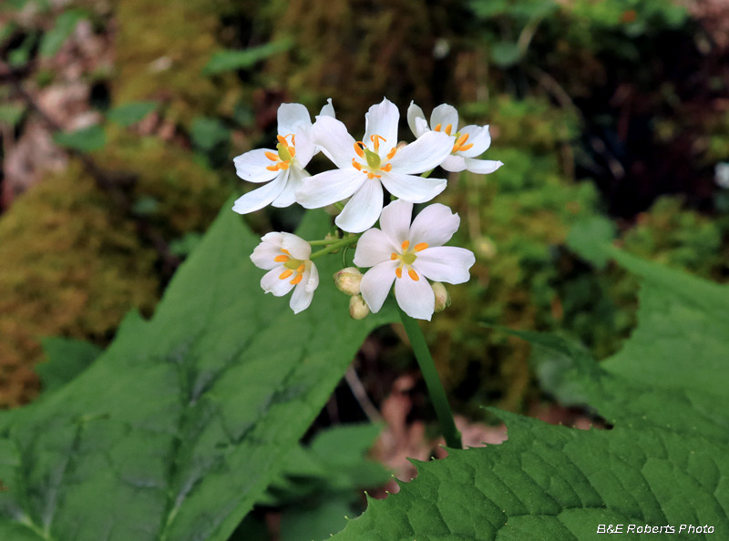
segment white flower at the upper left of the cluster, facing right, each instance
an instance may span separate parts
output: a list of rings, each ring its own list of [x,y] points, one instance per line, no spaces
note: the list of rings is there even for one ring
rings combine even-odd
[[[321,115],[334,117],[329,99]],[[303,168],[317,148],[312,140],[312,119],[306,107],[298,103],[284,103],[278,110],[278,144],[272,148],[257,148],[233,159],[235,172],[249,182],[269,182],[235,201],[233,210],[248,214],[272,204],[288,207],[295,202],[294,193],[309,176]]]

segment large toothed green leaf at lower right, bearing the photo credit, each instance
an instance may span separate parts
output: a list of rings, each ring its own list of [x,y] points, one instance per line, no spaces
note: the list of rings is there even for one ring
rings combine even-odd
[[[672,538],[729,536],[729,289],[602,250],[642,282],[639,327],[620,353],[598,364],[560,337],[515,334],[534,344],[550,392],[614,428],[499,412],[506,443],[417,464],[412,483],[370,501],[336,541],[582,541],[619,524],[625,539],[660,526],[673,526]],[[638,534],[645,526],[659,529]]]

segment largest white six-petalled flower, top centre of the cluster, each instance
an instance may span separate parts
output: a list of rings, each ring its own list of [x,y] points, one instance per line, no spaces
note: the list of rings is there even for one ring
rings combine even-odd
[[[335,221],[343,230],[359,233],[379,218],[383,186],[395,197],[413,203],[436,197],[446,188],[446,180],[414,175],[435,168],[447,157],[450,138],[431,132],[398,150],[399,118],[397,107],[383,99],[370,107],[364,140],[355,142],[339,120],[316,117],[314,141],[337,169],[306,179],[296,200],[307,209],[318,209],[351,197]]]

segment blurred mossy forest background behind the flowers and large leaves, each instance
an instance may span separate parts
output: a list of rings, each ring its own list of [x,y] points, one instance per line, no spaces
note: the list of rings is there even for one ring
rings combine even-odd
[[[103,346],[128,310],[154,309],[227,195],[251,188],[231,158],[271,145],[282,102],[332,97],[354,133],[386,96],[403,117],[447,102],[491,126],[486,158],[506,165],[451,174],[438,199],[461,216],[473,280],[426,332],[458,411],[527,410],[543,400],[529,346],[484,323],[604,358],[635,322],[636,283],[572,253],[570,229],[608,217],[626,250],[729,278],[727,52],[721,0],[6,0],[0,407],[38,393],[42,337]],[[361,374],[375,403],[413,366],[394,336]]]

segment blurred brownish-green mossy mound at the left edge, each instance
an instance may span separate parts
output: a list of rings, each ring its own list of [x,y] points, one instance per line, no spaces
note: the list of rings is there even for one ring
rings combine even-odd
[[[105,343],[129,310],[157,299],[156,254],[74,164],[0,220],[0,407],[31,400],[38,339]]]

